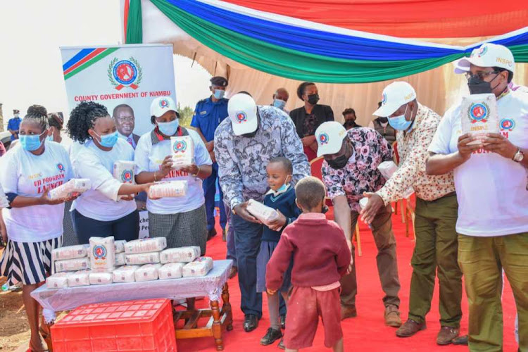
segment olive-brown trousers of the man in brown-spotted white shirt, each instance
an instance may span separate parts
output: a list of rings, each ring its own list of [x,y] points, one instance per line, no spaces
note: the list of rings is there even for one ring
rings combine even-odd
[[[434,277],[440,286],[440,324],[460,327],[462,309],[462,272],[458,268],[458,218],[456,195],[444,196],[436,201],[416,199],[416,244],[413,276],[410,279],[409,318],[425,322],[431,309]]]

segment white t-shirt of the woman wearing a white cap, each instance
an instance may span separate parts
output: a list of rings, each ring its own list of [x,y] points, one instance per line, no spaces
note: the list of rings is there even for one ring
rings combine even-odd
[[[194,163],[196,165],[212,165],[206,145],[203,144],[196,131],[187,129],[189,136],[194,142]],[[160,170],[161,163],[166,156],[171,155],[170,140],[152,144],[151,132],[143,134],[137,142],[134,161],[136,163],[136,175],[140,172],[154,172]],[[184,180],[187,181],[187,195],[179,198],[147,199],[146,209],[154,214],[175,214],[195,210],[205,203],[203,196],[202,181],[199,177],[189,175],[180,170],[171,170],[163,181]]]

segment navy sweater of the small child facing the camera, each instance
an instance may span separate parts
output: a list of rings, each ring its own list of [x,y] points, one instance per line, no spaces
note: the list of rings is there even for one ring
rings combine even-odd
[[[274,196],[273,194],[266,194],[264,198],[264,205],[275,210],[279,210],[282,215],[286,217],[286,225],[284,225],[284,227],[287,227],[289,224],[291,224],[291,222],[297,220],[298,215],[301,215],[301,209],[299,209],[295,203],[295,198],[295,187],[290,184],[287,191],[278,194],[277,196]],[[264,226],[262,240],[278,242],[284,227],[280,231],[273,231],[268,226]]]

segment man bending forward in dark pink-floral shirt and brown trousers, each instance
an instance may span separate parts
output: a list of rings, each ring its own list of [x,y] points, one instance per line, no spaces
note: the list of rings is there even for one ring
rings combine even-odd
[[[375,192],[382,188],[385,179],[377,166],[383,161],[392,160],[392,150],[375,130],[357,127],[347,132],[339,122],[324,122],[315,131],[315,137],[319,147],[318,156],[325,156],[322,179],[334,203],[335,221],[344,230],[353,257],[351,229],[356,227],[358,221],[358,202],[363,198],[363,192]],[[377,270],[385,292],[385,323],[399,327],[400,281],[390,205],[377,212],[371,228],[378,249]],[[350,274],[341,279],[341,289],[341,319],[355,317],[358,292],[355,261]]]

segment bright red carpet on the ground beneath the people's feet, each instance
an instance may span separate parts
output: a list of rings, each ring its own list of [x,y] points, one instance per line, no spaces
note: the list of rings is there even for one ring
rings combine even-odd
[[[397,240],[398,270],[401,282],[401,318],[406,320],[408,314],[409,285],[412,268],[410,258],[413,253],[414,242],[412,234],[405,235],[405,225],[401,223],[400,215],[393,216],[394,233]],[[217,228],[217,237],[208,241],[208,256],[215,259],[225,258],[225,242],[222,242],[221,231]],[[356,265],[358,271],[358,296],[356,299],[358,317],[344,320],[342,328],[346,351],[468,351],[467,346],[437,346],[436,334],[440,329],[438,313],[438,282],[432,302],[432,309],[427,315],[427,329],[418,332],[414,337],[400,339],[394,332],[396,329],[384,325],[382,304],[382,289],[376,267],[376,246],[372,233],[365,224],[360,225],[361,244],[363,256],[358,256],[356,249]],[[277,344],[272,346],[260,346],[260,338],[269,327],[268,308],[264,298],[263,318],[260,320],[258,329],[246,333],[242,329],[244,314],[240,310],[240,291],[237,277],[231,279],[230,301],[233,306],[234,329],[223,334],[225,351],[280,351]],[[207,301],[197,302],[199,306],[206,305]],[[467,332],[467,299],[463,294],[463,319],[461,333]],[[517,351],[514,337],[515,303],[513,294],[508,283],[505,284],[503,294],[504,315],[504,351]],[[322,327],[320,325],[312,348],[302,351],[326,351],[323,344]],[[186,351],[216,351],[213,338],[189,339],[177,341],[180,352]],[[328,350],[329,351],[329,350]]]

